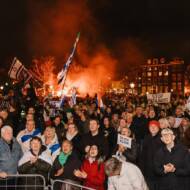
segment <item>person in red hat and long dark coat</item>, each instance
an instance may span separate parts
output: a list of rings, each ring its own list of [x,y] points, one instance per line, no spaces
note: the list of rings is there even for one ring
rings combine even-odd
[[[151,190],[156,189],[157,177],[154,173],[153,160],[156,152],[163,146],[160,139],[160,123],[156,120],[149,122],[149,134],[143,142],[140,156],[140,168]]]

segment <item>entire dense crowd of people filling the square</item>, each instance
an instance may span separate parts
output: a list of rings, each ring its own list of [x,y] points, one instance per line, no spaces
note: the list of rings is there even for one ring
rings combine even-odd
[[[36,97],[32,86],[6,92],[0,177],[40,174],[47,185],[65,180],[96,190],[189,190],[187,97],[173,95],[167,104],[125,94],[102,99],[103,106],[97,96],[75,105],[65,98],[52,108],[51,98]],[[131,139],[130,148],[118,143],[118,134]]]

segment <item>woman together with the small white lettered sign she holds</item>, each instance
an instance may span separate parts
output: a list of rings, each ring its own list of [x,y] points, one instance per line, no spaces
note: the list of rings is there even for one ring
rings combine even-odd
[[[118,146],[114,155],[120,160],[136,163],[137,144],[130,136],[131,130],[128,127],[122,128],[121,134],[118,135]]]

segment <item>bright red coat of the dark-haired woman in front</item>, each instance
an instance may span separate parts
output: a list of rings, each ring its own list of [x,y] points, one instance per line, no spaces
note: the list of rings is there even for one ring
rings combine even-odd
[[[90,163],[89,160],[84,160],[81,171],[87,173],[87,178],[84,179],[84,186],[90,187],[96,190],[104,190],[105,171],[104,164],[98,161]]]

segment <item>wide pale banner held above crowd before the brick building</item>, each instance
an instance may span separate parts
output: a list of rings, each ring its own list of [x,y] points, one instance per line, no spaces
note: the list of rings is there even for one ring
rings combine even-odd
[[[169,103],[170,98],[171,98],[171,93],[147,94],[148,103],[152,104]]]

